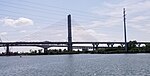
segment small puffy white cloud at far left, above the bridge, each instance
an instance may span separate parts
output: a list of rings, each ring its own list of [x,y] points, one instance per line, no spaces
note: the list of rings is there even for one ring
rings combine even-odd
[[[9,26],[24,26],[24,25],[33,25],[34,22],[31,19],[20,17],[18,19],[4,18],[1,20],[4,25]]]

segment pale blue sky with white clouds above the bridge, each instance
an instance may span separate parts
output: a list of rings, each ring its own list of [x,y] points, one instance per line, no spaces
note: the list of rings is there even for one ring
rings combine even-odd
[[[0,38],[5,41],[149,41],[150,0],[0,0]],[[30,47],[31,48],[31,47]],[[3,49],[4,50],[4,49]]]

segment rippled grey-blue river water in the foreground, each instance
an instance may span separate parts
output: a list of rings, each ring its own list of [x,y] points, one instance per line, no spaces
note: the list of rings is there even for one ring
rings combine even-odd
[[[0,57],[0,76],[150,76],[150,54]]]

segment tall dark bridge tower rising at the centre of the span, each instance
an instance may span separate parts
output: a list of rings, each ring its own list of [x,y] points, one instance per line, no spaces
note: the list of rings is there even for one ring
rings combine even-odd
[[[68,51],[72,51],[71,15],[68,15]]]

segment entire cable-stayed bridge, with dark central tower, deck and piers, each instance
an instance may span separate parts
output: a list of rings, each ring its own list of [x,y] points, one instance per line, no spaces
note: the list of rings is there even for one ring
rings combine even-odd
[[[87,45],[88,46],[85,46]],[[106,46],[100,46],[105,44]],[[150,42],[137,42],[137,46],[150,44]],[[81,46],[82,45],[82,46]],[[68,42],[0,42],[0,47],[6,47],[6,55],[10,53],[10,46],[35,46],[41,47],[44,49],[44,53],[47,53],[48,48],[50,47],[67,47],[68,51],[73,49],[93,49],[97,50],[98,48],[113,48],[115,45],[120,45],[122,48],[125,48],[126,42],[72,42],[72,30],[71,30],[71,15],[68,15]]]

